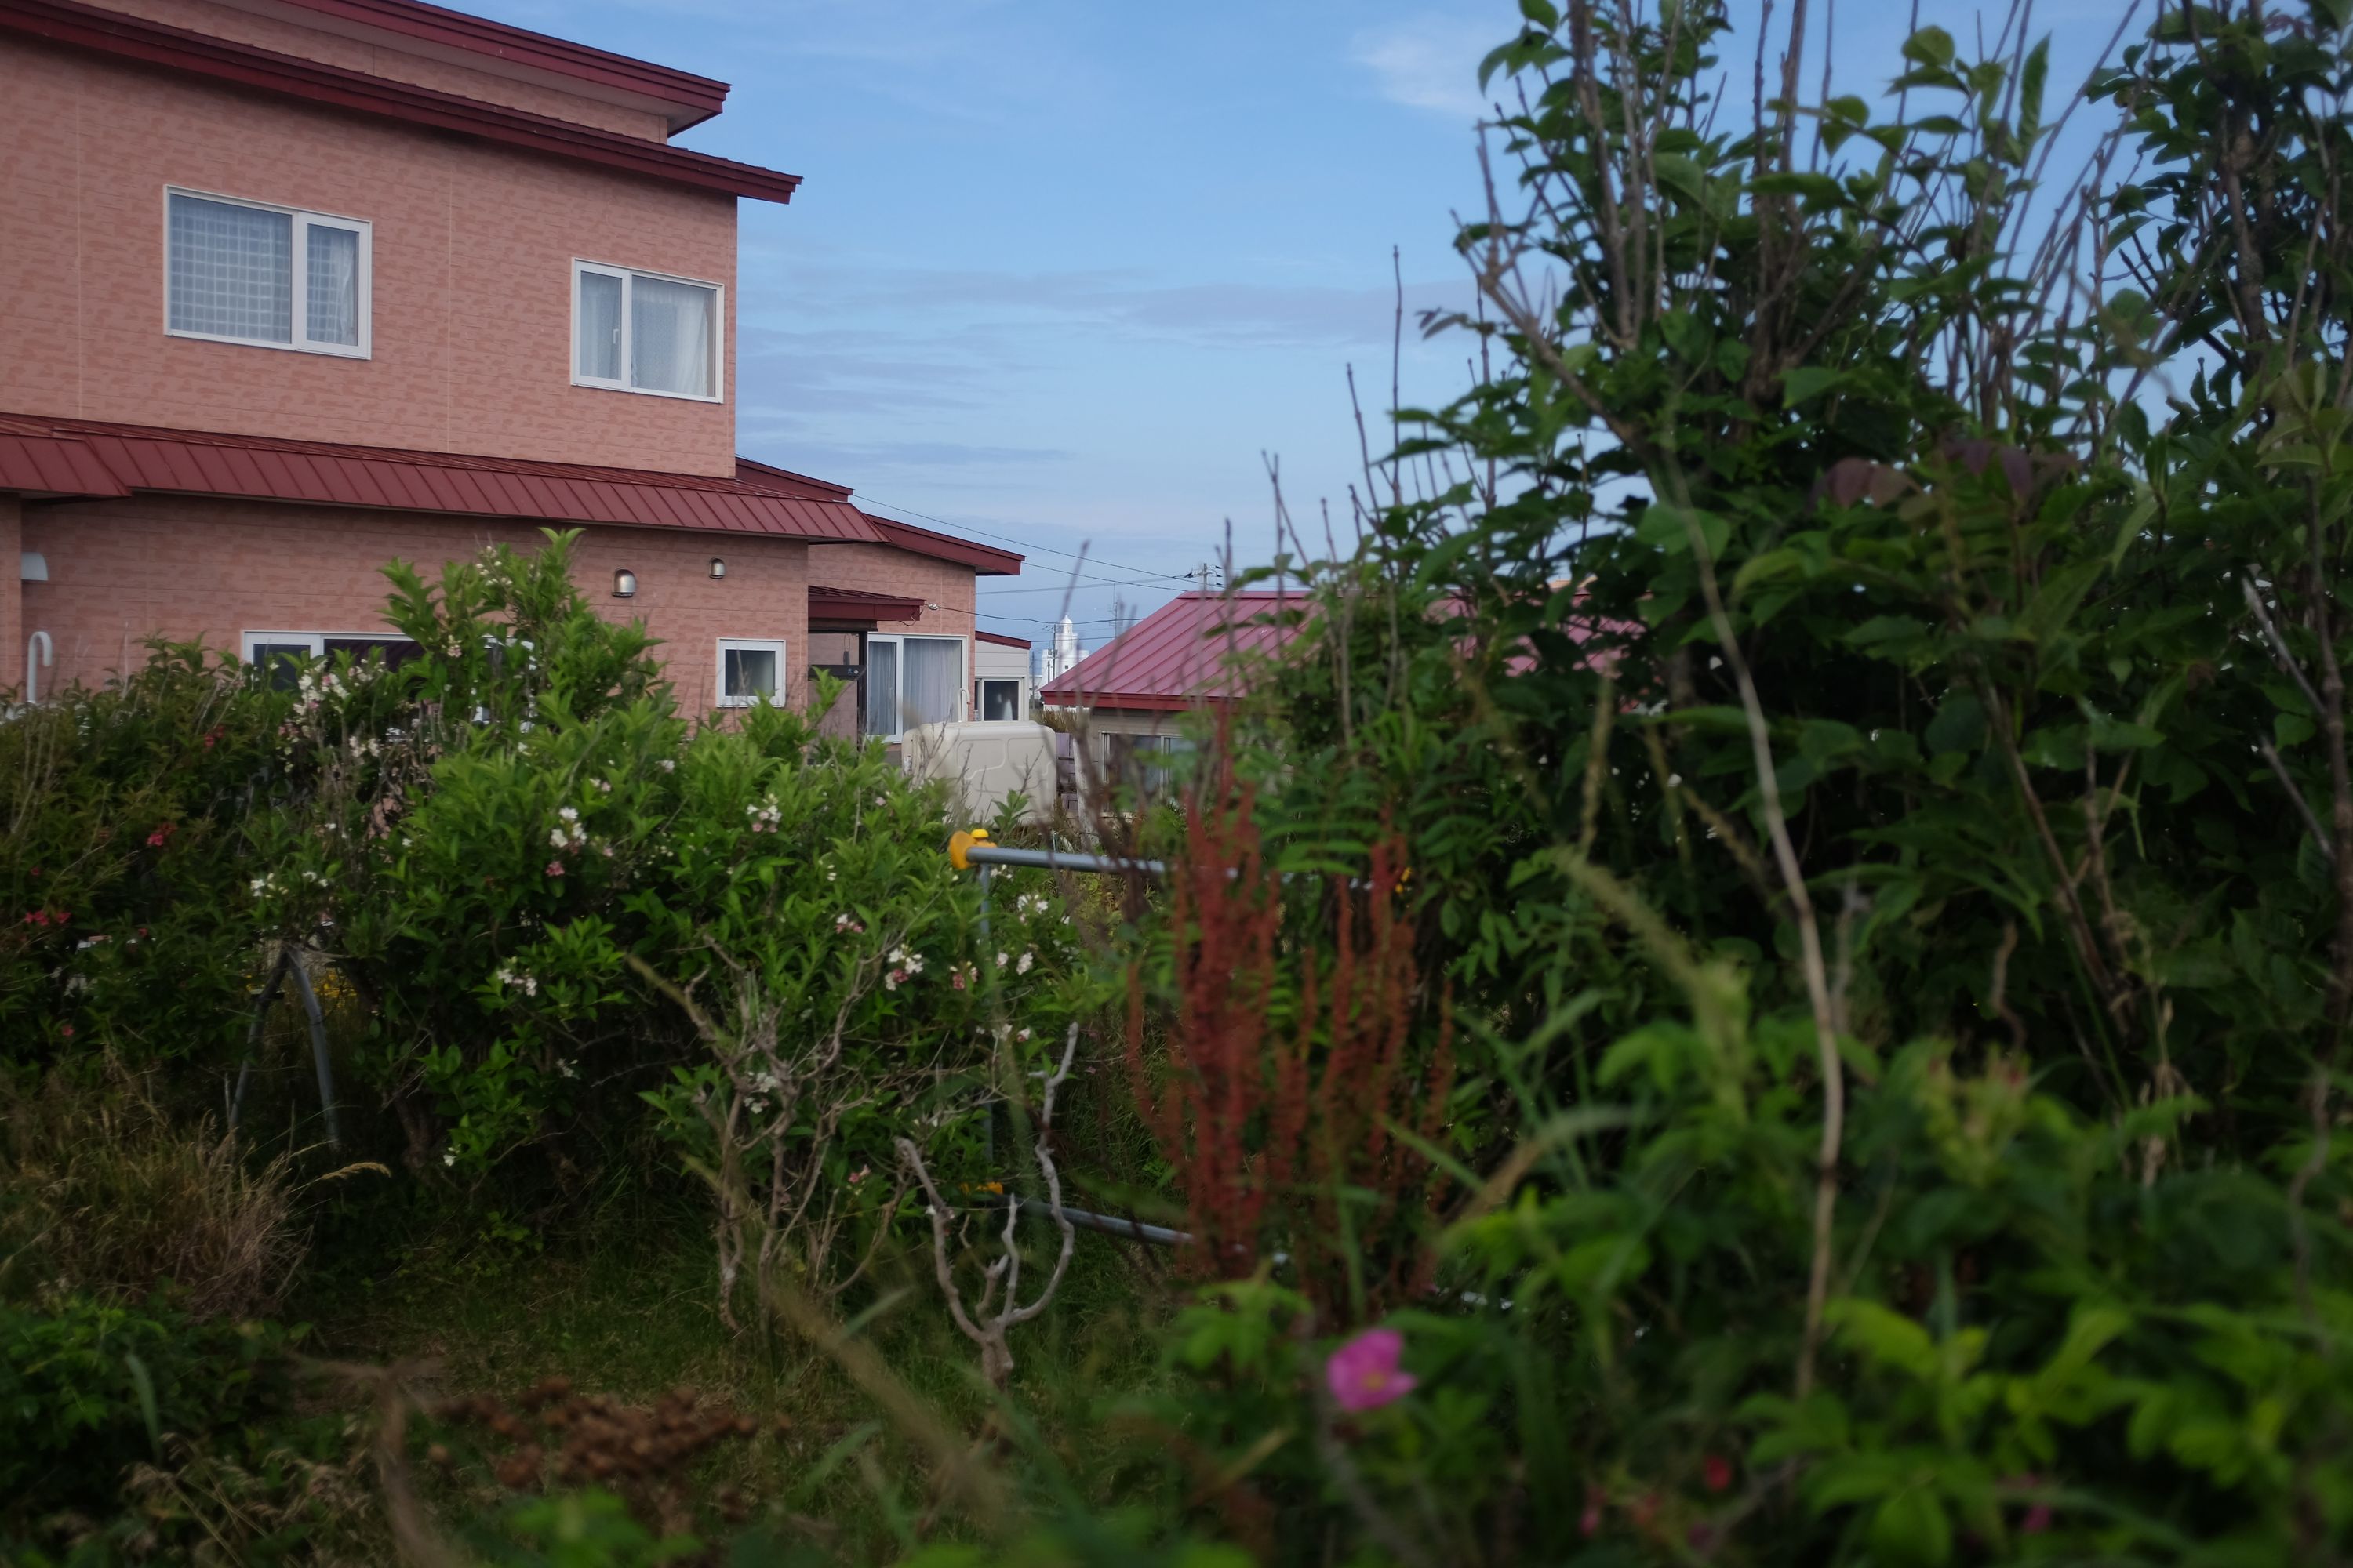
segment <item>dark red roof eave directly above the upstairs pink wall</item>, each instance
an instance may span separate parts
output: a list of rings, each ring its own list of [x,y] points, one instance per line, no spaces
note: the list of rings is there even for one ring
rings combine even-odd
[[[529,115],[520,108],[482,103],[431,87],[409,87],[365,71],[344,71],[318,61],[254,49],[252,45],[209,38],[160,21],[141,21],[120,12],[101,12],[73,0],[0,0],[0,33],[42,38],[47,42],[92,49],[115,59],[160,66],[181,75],[231,82],[242,89],[273,92],[306,103],[327,103],[362,115],[381,115],[407,125],[426,125],[482,141],[574,158],[645,174],[673,186],[696,186],[725,195],[748,195],[762,202],[788,202],[800,186],[798,174],[760,169],[732,158],[689,153],[645,136],[624,136],[591,125]]]

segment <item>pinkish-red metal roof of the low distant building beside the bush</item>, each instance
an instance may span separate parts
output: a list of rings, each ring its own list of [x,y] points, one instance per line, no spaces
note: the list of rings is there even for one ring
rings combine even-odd
[[[1179,710],[1233,698],[1233,661],[1289,642],[1299,628],[1261,621],[1297,592],[1181,592],[1075,668],[1049,679],[1040,701],[1082,708]]]

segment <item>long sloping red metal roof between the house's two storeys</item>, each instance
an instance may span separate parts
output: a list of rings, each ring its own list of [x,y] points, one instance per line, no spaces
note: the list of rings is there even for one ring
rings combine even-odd
[[[94,461],[94,468],[82,463],[85,477],[94,482],[73,494],[92,496],[167,491],[821,543],[882,538],[847,501],[788,494],[741,477],[155,430],[82,418],[0,416],[0,435],[80,447]],[[0,480],[0,487],[26,489],[14,480]]]

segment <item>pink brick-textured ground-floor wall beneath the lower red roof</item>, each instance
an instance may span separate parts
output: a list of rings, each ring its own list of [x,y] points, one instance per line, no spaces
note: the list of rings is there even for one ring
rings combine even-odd
[[[520,524],[271,505],[193,496],[26,503],[24,548],[49,557],[49,581],[24,585],[24,630],[56,639],[42,686],[96,684],[136,668],[146,637],[205,639],[240,651],[242,632],[372,632],[402,557],[433,581],[447,559],[482,545],[536,548]],[[711,557],[727,562],[711,578]],[[791,538],[584,529],[574,581],[598,614],[645,621],[685,712],[708,712],[720,637],[781,637],[786,668],[807,670],[809,548]],[[14,559],[14,557],[9,557]],[[638,597],[614,599],[612,574],[638,574]],[[16,639],[19,658],[24,637]],[[788,684],[795,701],[800,682]]]

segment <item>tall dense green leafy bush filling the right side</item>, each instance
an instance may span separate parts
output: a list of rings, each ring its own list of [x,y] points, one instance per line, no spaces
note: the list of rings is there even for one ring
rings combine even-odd
[[[2341,1554],[2344,19],[2167,9],[2075,195],[2017,24],[1725,132],[1720,7],[1522,12],[1494,369],[1202,799],[1405,835],[1471,1197],[1409,1392],[1278,1265],[1160,1420],[1282,1559]]]

